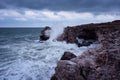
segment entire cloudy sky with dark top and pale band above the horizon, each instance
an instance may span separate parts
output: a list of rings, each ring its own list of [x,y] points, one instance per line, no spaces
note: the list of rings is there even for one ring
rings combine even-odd
[[[0,27],[67,26],[120,19],[120,0],[0,0]]]

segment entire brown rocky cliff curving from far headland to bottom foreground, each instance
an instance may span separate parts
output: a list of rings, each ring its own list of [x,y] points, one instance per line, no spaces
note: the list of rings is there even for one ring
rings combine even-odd
[[[119,20],[67,27],[59,40],[78,44],[76,37],[100,44],[78,57],[59,60],[51,80],[120,80]]]

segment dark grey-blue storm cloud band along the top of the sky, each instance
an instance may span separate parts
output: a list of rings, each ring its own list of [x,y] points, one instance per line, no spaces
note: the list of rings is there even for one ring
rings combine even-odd
[[[0,0],[0,8],[107,12],[118,11],[120,0]]]

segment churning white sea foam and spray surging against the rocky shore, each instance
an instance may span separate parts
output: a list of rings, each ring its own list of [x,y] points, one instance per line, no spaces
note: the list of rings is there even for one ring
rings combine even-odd
[[[0,71],[4,69],[0,80],[50,80],[57,61],[65,51],[73,52],[78,56],[95,46],[79,48],[75,44],[53,41],[62,32],[62,29],[56,28],[56,30],[57,32],[53,31],[51,38],[45,42],[33,40],[0,46],[9,48],[11,53],[15,54],[13,57],[16,57],[16,60],[7,67],[0,67]]]

